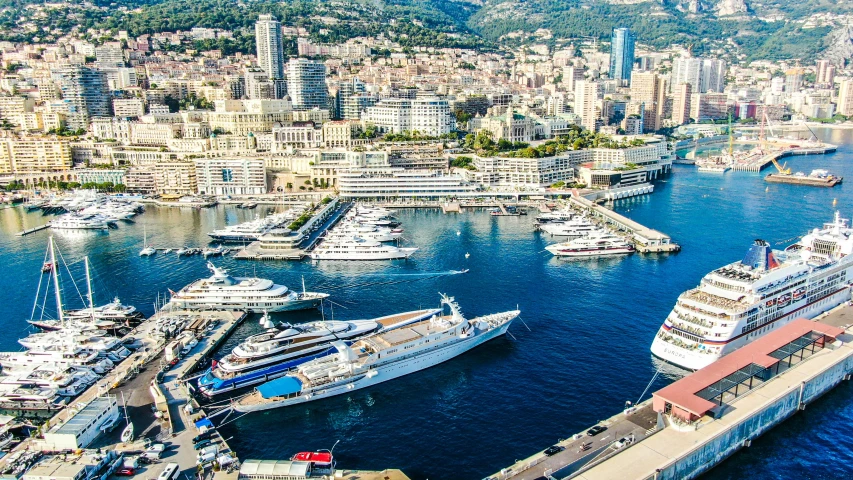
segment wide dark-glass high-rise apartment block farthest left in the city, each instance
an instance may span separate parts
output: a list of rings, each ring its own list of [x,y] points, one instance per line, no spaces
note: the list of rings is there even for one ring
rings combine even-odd
[[[55,73],[59,76],[62,99],[68,108],[68,128],[86,129],[92,118],[110,116],[110,96],[103,72],[82,65],[69,65]]]

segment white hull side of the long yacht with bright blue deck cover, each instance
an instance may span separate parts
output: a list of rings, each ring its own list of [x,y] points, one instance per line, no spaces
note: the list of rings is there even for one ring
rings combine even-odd
[[[447,360],[450,360],[451,358],[461,355],[462,353],[465,353],[468,350],[471,350],[472,348],[481,345],[493,338],[499,337],[506,333],[511,323],[511,321],[506,322],[500,327],[489,332],[485,332],[482,335],[461,340],[451,345],[440,347],[428,353],[422,353],[411,358],[400,359],[389,364],[377,367],[375,370],[371,370],[376,372],[376,374],[372,376],[357,375],[355,379],[348,379],[348,381],[328,386],[321,390],[314,391],[310,395],[299,395],[298,397],[284,399],[276,402],[269,402],[259,405],[241,405],[237,403],[235,404],[234,409],[238,412],[243,413],[270,410],[273,408],[297,405],[300,403],[320,400],[322,398],[333,397],[335,395],[353,392],[355,390],[370,387],[372,385],[376,385],[388,380],[393,380],[395,378],[402,377],[404,375],[415,373],[420,370],[424,370],[426,368],[438,365],[439,363],[445,362]]]

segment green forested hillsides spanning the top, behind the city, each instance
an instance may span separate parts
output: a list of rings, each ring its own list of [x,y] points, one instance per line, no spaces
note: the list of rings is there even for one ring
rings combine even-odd
[[[26,8],[33,4],[47,7]],[[319,42],[382,34],[404,47],[494,48],[503,43],[607,39],[611,28],[625,26],[636,32],[640,43],[655,47],[693,45],[702,53],[726,46],[749,58],[807,60],[833,43],[849,43],[846,34],[839,33],[853,20],[853,1],[0,0],[0,40],[49,42],[76,26],[82,32],[128,30],[134,36],[215,27],[233,30],[234,39],[202,47],[251,52],[260,13],[303,27]],[[534,36],[540,29],[547,32]]]

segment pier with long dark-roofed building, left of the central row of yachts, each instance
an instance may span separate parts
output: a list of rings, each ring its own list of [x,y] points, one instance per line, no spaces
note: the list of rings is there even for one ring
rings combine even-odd
[[[323,235],[335,226],[352,207],[350,202],[335,198],[318,210],[296,232],[287,235],[267,234],[237,252],[240,260],[302,260],[317,246]]]

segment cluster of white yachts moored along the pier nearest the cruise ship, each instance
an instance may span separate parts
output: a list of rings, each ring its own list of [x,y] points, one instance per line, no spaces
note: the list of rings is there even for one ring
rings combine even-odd
[[[582,214],[568,210],[545,213],[536,218],[537,228],[553,237],[567,240],[545,247],[558,257],[601,257],[629,255],[634,245],[596,225]]]

